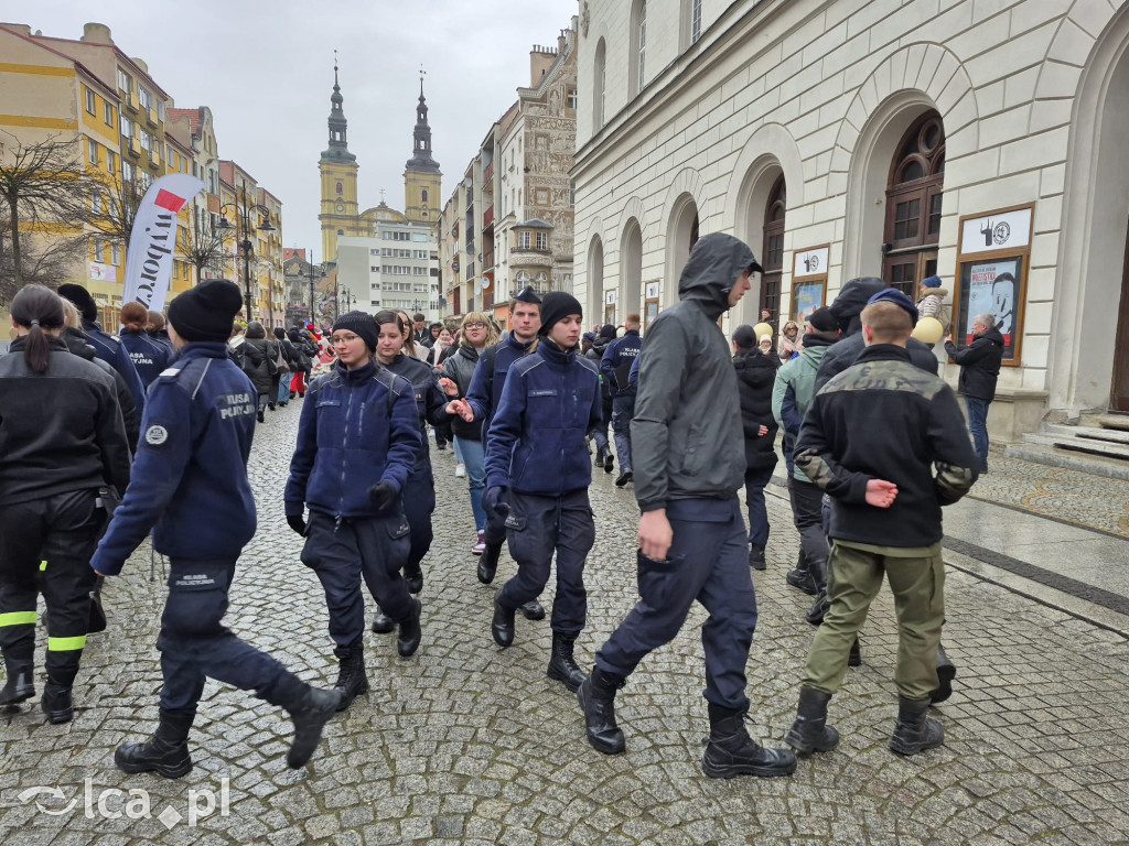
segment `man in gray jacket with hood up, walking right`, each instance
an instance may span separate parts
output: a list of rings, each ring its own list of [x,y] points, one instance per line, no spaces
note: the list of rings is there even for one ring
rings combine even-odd
[[[756,626],[749,538],[737,491],[745,443],[737,377],[718,327],[761,272],[751,249],[715,233],[691,249],[676,305],[648,331],[639,356],[631,422],[639,519],[639,601],[596,653],[577,690],[588,741],[605,755],[624,749],[615,691],[642,659],[682,628],[697,599],[702,626],[710,739],[702,769],[712,777],[779,776],[796,768],[789,750],[763,749],[745,731],[745,664]]]

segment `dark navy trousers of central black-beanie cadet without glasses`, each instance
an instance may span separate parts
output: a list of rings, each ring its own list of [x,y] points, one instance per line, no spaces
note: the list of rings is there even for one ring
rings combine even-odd
[[[596,543],[596,522],[587,490],[561,496],[510,491],[508,501],[506,529],[517,575],[498,592],[498,605],[516,609],[541,596],[555,552],[557,596],[550,626],[553,632],[577,634],[588,614],[584,564]]]

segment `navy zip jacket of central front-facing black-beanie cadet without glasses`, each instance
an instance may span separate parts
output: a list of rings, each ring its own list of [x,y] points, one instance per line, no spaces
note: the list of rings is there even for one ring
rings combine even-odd
[[[487,485],[561,496],[592,484],[585,435],[601,421],[599,374],[543,340],[509,369],[487,434]]]

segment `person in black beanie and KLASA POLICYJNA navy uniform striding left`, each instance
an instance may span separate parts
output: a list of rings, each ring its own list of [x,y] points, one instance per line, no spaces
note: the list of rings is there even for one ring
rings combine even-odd
[[[290,713],[287,764],[295,769],[314,754],[341,698],[299,681],[221,623],[235,563],[255,534],[246,473],[255,389],[227,355],[242,305],[238,287],[224,280],[205,280],[169,303],[178,356],[152,384],[130,485],[90,562],[102,575],[119,574],[155,526],[154,546],[169,558],[157,638],[165,677],[160,723],[149,740],[114,752],[126,773],[180,778],[192,769],[189,730],[205,678],[254,690]]]

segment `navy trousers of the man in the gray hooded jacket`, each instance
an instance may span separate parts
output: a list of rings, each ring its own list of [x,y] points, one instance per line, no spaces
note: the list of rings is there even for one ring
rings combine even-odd
[[[697,599],[710,615],[702,626],[706,698],[746,711],[745,664],[756,627],[756,593],[741,502],[673,500],[666,517],[674,530],[666,561],[639,553],[639,601],[596,653],[596,667],[630,676],[649,652],[674,638]]]

